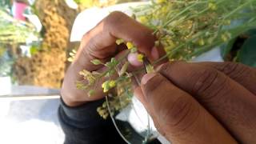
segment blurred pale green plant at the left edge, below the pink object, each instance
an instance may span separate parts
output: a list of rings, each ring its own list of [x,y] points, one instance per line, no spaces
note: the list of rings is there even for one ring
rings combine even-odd
[[[14,51],[18,51],[13,51],[13,48],[16,46],[14,49],[17,49],[21,44],[33,44],[30,53],[34,54],[37,51],[34,43],[38,43],[40,36],[32,24],[18,21],[9,14],[9,1],[0,3],[0,76],[10,76],[17,57]]]

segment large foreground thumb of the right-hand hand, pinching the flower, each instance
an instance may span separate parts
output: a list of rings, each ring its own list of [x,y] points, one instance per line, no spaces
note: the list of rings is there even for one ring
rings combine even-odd
[[[178,89],[161,74],[142,78],[143,105],[159,132],[177,143],[235,143],[221,124],[190,94]]]

